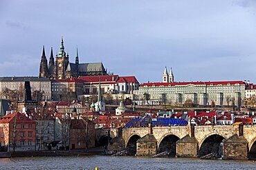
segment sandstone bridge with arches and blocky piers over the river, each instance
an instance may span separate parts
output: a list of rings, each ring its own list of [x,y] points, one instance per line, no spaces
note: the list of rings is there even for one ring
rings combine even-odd
[[[109,134],[109,149],[127,149],[137,156],[163,151],[178,157],[199,157],[212,152],[226,159],[256,156],[256,125],[131,127],[111,129]]]

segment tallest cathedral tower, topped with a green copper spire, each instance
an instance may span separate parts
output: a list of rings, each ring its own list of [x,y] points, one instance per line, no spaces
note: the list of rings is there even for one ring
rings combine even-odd
[[[55,72],[57,79],[64,79],[66,78],[66,66],[68,65],[68,54],[66,55],[65,48],[64,48],[64,41],[62,37],[62,41],[60,44],[60,52],[56,54],[55,58]]]

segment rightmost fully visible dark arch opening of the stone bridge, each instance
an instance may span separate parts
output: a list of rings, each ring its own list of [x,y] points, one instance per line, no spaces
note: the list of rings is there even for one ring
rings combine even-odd
[[[223,154],[223,141],[226,140],[221,134],[208,134],[199,145],[199,156],[205,156],[209,153],[217,153],[221,157]]]

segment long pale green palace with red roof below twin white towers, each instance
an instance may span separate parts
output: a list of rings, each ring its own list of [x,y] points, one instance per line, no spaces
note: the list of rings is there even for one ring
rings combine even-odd
[[[149,94],[150,100],[156,105],[163,102],[179,105],[190,100],[197,106],[209,106],[212,103],[230,106],[233,102],[241,107],[245,89],[246,83],[243,81],[143,83],[134,91],[134,98],[135,102],[138,100],[138,105],[140,101],[145,102],[145,94]]]

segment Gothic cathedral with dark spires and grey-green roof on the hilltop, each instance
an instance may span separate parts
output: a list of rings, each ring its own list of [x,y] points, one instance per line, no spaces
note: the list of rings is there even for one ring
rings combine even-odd
[[[50,61],[47,63],[46,54],[43,47],[39,66],[39,77],[51,79],[107,75],[107,70],[104,69],[102,63],[79,63],[78,50],[75,56],[75,63],[70,63],[69,55],[65,52],[63,38],[61,40],[60,52],[56,54],[55,61],[53,58],[53,48],[51,48]]]

